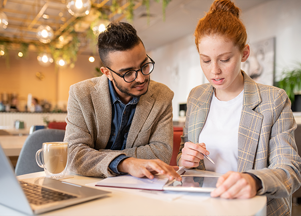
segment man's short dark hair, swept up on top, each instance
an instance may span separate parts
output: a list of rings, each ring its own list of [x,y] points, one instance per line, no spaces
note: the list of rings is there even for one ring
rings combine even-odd
[[[98,36],[99,57],[105,66],[110,66],[108,55],[114,51],[126,51],[142,43],[137,31],[128,23],[111,22]],[[143,44],[143,43],[142,43]]]

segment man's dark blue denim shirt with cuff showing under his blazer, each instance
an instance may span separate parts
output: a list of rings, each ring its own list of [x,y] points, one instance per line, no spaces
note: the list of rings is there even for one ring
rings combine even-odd
[[[124,150],[129,128],[131,126],[136,105],[139,101],[138,97],[133,97],[130,102],[124,104],[118,97],[113,83],[109,80],[109,91],[112,103],[112,121],[111,134],[107,143],[106,149]],[[125,158],[125,155],[120,155],[115,158],[109,165],[109,168],[116,174],[121,174],[117,170],[118,164]]]

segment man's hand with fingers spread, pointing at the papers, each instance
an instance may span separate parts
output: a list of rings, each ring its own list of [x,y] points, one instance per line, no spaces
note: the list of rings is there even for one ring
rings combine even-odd
[[[176,172],[179,167],[169,166],[159,159],[143,160],[136,158],[126,158],[118,164],[117,169],[119,172],[128,173],[138,178],[146,176],[149,179],[153,179],[153,174],[160,173],[166,175],[169,180],[182,180],[180,175]]]

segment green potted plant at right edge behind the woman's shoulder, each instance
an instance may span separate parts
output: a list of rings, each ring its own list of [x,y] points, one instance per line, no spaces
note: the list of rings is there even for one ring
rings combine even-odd
[[[301,63],[293,69],[284,70],[277,86],[285,90],[292,103],[292,111],[301,112]]]

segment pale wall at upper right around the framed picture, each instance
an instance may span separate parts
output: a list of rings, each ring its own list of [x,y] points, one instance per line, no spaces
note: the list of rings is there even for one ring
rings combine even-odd
[[[301,1],[274,0],[243,13],[250,43],[271,37],[275,44],[275,81],[285,68],[301,62]]]

